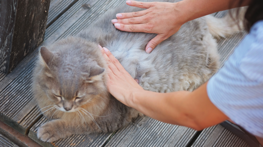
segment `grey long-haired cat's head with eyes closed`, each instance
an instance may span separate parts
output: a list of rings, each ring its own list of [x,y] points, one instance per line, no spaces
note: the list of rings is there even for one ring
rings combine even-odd
[[[107,92],[105,61],[100,54],[97,46],[85,43],[41,47],[41,68],[35,72],[34,80],[55,108],[74,112]]]

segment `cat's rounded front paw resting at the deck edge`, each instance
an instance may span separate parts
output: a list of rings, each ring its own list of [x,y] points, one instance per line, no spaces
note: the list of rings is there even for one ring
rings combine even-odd
[[[54,129],[52,125],[45,123],[38,128],[37,138],[41,139],[44,142],[54,142],[61,138],[55,130],[56,129]]]

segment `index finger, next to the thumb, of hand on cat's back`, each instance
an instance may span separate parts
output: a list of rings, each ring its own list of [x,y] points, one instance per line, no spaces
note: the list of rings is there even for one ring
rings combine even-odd
[[[152,33],[153,25],[147,24],[135,24],[135,25],[124,25],[115,23],[115,28],[121,31],[126,32],[145,32],[145,33]]]

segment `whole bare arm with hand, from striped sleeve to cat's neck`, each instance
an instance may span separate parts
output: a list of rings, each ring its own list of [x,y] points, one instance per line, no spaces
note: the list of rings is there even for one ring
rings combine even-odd
[[[104,51],[104,50],[105,51]],[[156,93],[145,91],[106,48],[101,48],[108,63],[107,87],[123,104],[156,120],[201,130],[228,117],[211,103],[203,84],[194,92]]]

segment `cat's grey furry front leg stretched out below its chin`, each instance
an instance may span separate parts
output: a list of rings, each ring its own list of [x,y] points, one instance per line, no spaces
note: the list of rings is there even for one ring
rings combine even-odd
[[[87,128],[82,124],[70,120],[57,119],[44,123],[37,130],[37,137],[44,142],[53,142],[60,138],[67,138],[73,134],[83,134]]]

